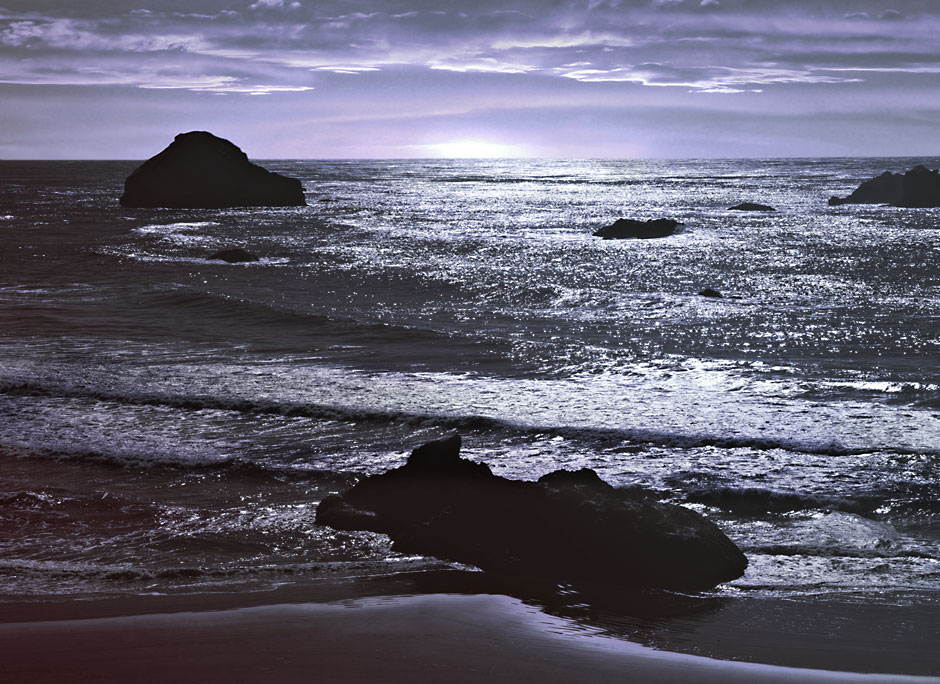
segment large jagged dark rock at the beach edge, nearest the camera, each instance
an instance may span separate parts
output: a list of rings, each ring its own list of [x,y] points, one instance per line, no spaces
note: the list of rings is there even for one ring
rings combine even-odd
[[[405,553],[555,581],[697,591],[747,567],[703,516],[615,489],[592,470],[507,480],[459,451],[458,435],[418,447],[401,468],[325,498],[317,523],[383,532]]]

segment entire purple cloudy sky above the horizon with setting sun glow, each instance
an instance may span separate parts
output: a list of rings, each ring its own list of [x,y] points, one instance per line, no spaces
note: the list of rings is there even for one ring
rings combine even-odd
[[[940,155],[940,0],[0,0],[0,158]]]

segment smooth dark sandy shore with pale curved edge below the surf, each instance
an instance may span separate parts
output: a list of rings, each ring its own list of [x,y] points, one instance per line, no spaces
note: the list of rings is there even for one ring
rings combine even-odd
[[[327,599],[328,593],[318,598]],[[250,607],[226,606],[232,598],[205,598],[115,600],[97,607],[57,602],[4,611],[20,621],[0,624],[0,679],[11,684],[940,682],[839,672],[834,663],[820,670],[655,650],[499,594],[359,596]],[[80,617],[83,612],[100,616]],[[889,648],[883,655],[890,666],[899,654]]]

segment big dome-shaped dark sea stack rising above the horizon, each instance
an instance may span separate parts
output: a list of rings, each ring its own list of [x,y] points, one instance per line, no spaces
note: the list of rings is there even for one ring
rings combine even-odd
[[[219,209],[305,206],[303,187],[263,169],[228,140],[205,131],[180,133],[124,182],[125,207]]]

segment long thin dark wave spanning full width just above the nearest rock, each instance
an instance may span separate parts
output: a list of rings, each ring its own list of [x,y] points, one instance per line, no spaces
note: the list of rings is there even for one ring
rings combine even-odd
[[[822,456],[851,456],[870,453],[940,456],[940,450],[925,452],[907,447],[860,448],[839,443],[820,443],[786,437],[724,436],[675,433],[641,428],[527,425],[487,415],[418,413],[404,410],[345,406],[337,404],[244,399],[205,395],[127,393],[31,382],[0,382],[0,394],[34,397],[67,397],[117,402],[136,406],[169,407],[182,411],[231,411],[243,414],[278,415],[322,421],[396,424],[414,428],[437,428],[464,433],[485,433],[504,438],[545,439],[560,437],[592,448],[617,448],[625,443],[676,449],[714,447],[756,451],[784,450]],[[717,494],[715,496],[718,496]],[[729,495],[731,496],[731,495]],[[764,495],[760,495],[764,496]],[[767,495],[769,497],[769,495]],[[742,500],[746,500],[743,497]]]

